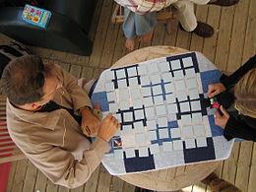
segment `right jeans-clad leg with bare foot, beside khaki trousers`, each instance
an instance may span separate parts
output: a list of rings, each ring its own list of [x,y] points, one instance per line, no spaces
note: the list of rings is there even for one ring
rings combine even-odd
[[[152,40],[154,29],[157,25],[157,12],[150,12],[144,15],[135,14],[136,35],[141,36],[141,40],[144,42]]]

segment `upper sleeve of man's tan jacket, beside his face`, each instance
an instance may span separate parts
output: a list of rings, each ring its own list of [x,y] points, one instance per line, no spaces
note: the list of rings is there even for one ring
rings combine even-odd
[[[78,85],[78,79],[63,70],[61,67],[57,65],[55,66],[57,68],[56,70],[58,75],[61,76],[60,79],[62,80],[63,87],[65,87],[66,91],[72,98],[74,111],[78,111],[83,106],[92,107],[91,99],[86,91]]]

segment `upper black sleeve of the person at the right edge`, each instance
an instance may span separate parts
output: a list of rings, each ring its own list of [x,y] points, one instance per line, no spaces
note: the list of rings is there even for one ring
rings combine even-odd
[[[232,75],[222,75],[220,81],[224,84],[227,89],[232,85],[235,85],[248,71],[256,68],[256,55],[251,57],[244,65],[239,67]]]

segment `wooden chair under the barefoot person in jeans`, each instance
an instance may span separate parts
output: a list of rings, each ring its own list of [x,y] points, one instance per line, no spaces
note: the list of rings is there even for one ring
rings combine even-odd
[[[164,8],[158,12],[158,21],[165,22],[166,31],[169,32],[170,21],[175,18],[173,12],[171,12],[171,6]],[[111,17],[113,24],[122,24],[124,20],[124,7],[119,4],[115,5],[114,12]]]

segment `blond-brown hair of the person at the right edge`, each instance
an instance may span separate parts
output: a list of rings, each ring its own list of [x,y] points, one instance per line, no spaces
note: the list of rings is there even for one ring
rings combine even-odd
[[[234,87],[235,108],[256,118],[256,69],[245,74]]]

